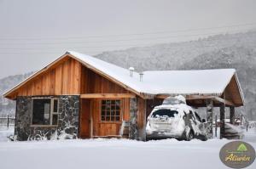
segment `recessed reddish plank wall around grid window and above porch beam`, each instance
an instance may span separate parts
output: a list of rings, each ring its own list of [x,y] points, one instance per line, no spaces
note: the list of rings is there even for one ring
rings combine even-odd
[[[120,87],[107,78],[96,74],[94,71],[82,67],[81,93],[130,93],[125,88]],[[122,121],[107,122],[101,121],[101,101],[102,99],[91,99],[90,113],[92,116],[93,136],[119,135]],[[122,118],[124,121],[130,120],[130,99],[121,99]],[[81,110],[83,111],[83,110]]]

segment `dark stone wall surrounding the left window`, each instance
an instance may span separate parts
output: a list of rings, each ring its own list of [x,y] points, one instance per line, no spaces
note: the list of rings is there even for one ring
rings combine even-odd
[[[55,97],[56,98],[56,97]],[[58,127],[31,127],[32,97],[18,97],[15,139],[71,139],[79,136],[79,96],[59,96]]]

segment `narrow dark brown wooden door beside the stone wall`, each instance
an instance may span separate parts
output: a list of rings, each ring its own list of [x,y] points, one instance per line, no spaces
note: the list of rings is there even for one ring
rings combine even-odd
[[[90,99],[81,99],[80,138],[90,138]]]

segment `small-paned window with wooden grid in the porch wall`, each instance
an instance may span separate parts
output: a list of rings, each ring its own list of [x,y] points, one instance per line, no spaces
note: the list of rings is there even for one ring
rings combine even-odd
[[[120,100],[102,100],[102,121],[120,121]]]

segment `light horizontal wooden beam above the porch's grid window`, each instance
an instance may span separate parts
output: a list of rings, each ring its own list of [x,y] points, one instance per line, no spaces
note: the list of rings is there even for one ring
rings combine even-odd
[[[81,94],[81,99],[114,99],[114,98],[135,98],[136,95],[132,93],[87,93]]]

